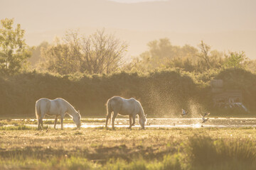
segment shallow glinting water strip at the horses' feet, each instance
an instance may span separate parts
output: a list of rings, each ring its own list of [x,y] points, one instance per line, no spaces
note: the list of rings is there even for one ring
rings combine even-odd
[[[51,120],[51,119],[44,119]],[[105,126],[102,121],[105,119],[92,119],[95,123],[82,123],[81,128],[97,128]],[[100,123],[97,123],[97,120]],[[36,121],[36,120],[34,120]],[[255,127],[256,118],[209,118],[205,123],[202,123],[201,118],[149,118],[145,128],[245,128],[245,127]],[[129,119],[128,118],[117,118],[114,122],[117,128],[128,128]],[[26,125],[26,124],[25,124]],[[46,125],[46,124],[45,124]],[[108,124],[111,127],[111,123]],[[10,125],[5,125],[10,126]],[[28,125],[34,126],[37,125]],[[49,125],[52,127],[53,125]],[[75,128],[75,123],[64,123],[64,128]],[[136,128],[139,128],[138,120],[135,124]],[[60,128],[60,124],[56,126]]]

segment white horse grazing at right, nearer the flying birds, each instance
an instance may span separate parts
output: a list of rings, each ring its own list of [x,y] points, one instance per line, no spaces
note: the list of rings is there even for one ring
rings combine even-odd
[[[107,122],[111,119],[112,112],[114,115],[112,117],[112,128],[114,129],[114,119],[117,117],[117,113],[120,115],[129,115],[129,128],[132,128],[135,125],[135,116],[139,115],[139,125],[142,129],[145,129],[146,124],[146,115],[141,103],[135,98],[125,99],[119,96],[114,96],[107,101],[107,119],[106,119],[106,128]]]

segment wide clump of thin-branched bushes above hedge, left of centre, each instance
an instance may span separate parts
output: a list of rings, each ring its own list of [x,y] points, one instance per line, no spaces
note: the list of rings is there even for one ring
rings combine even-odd
[[[109,74],[122,67],[126,52],[126,42],[105,34],[105,30],[97,30],[88,37],[70,30],[63,42],[43,48],[42,56],[46,62],[41,67],[59,74]]]

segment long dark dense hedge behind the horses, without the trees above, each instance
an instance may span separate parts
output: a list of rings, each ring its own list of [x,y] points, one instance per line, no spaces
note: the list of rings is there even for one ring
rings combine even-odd
[[[255,74],[245,69],[223,69],[195,75],[172,69],[149,74],[120,72],[107,76],[73,74],[60,77],[36,72],[1,76],[0,114],[34,116],[36,100],[60,97],[80,110],[82,116],[105,116],[105,103],[112,96],[137,98],[145,113],[152,117],[176,117],[181,108],[194,113],[218,111],[212,107],[210,93],[210,79],[214,78],[223,79],[225,89],[240,89],[245,106],[252,114],[256,111]]]

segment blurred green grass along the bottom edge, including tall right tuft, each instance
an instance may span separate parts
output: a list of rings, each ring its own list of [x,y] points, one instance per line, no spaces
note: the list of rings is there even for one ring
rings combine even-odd
[[[129,159],[110,159],[104,164],[91,162],[85,157],[74,155],[58,155],[50,159],[23,157],[16,152],[11,159],[1,159],[1,169],[33,168],[33,169],[106,169],[106,170],[179,170],[179,169],[255,169],[255,145],[251,140],[216,140],[210,137],[192,137],[189,139],[186,152],[164,154],[151,160],[137,157]],[[245,145],[242,145],[244,143]],[[28,151],[27,151],[28,152]]]

